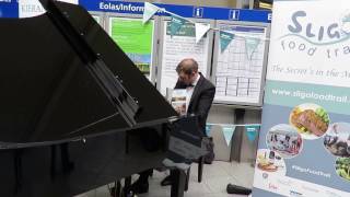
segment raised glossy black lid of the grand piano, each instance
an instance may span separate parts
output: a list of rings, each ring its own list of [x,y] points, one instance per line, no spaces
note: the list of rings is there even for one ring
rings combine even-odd
[[[0,19],[0,149],[51,144],[177,116],[81,7]]]

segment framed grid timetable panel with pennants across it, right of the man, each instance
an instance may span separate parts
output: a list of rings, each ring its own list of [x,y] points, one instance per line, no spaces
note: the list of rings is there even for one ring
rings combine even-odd
[[[218,21],[212,81],[215,103],[261,106],[268,55],[266,23]]]

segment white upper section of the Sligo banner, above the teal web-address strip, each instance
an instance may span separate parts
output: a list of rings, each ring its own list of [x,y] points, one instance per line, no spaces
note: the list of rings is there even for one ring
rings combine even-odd
[[[276,4],[267,80],[350,86],[350,2]]]

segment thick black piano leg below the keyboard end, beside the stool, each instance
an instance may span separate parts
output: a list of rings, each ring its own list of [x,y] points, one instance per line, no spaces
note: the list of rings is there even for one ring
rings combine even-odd
[[[184,197],[186,173],[182,170],[171,170],[171,177],[174,178],[172,184],[171,197]]]

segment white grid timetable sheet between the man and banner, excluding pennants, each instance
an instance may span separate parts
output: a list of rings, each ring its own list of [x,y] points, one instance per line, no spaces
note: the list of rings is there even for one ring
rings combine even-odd
[[[218,51],[214,102],[259,105],[267,27],[230,24],[219,26],[235,36],[224,51]],[[246,50],[245,39],[248,36],[260,39],[252,56]]]

